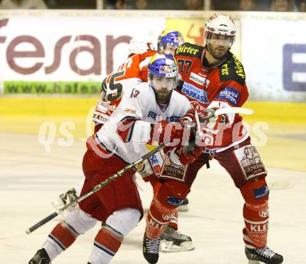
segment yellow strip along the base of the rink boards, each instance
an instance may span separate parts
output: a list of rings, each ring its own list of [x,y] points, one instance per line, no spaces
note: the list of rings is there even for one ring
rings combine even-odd
[[[97,103],[99,95],[88,98],[0,98],[0,116],[83,117]],[[247,120],[305,123],[306,104],[299,102],[246,102],[255,114]]]

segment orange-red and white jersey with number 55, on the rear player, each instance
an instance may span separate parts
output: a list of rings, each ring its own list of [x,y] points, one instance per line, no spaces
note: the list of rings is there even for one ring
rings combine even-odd
[[[154,54],[156,54],[154,50],[135,54],[124,61],[115,72],[105,77],[101,88],[102,98],[98,101],[92,117],[95,123],[104,124],[108,120],[118,107],[124,90],[147,81],[147,64]]]

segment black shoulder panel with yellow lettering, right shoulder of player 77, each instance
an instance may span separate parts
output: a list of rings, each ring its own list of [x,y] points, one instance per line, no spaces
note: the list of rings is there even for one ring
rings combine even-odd
[[[241,86],[245,85],[245,72],[239,59],[230,52],[227,61],[220,66],[220,81],[236,81]]]

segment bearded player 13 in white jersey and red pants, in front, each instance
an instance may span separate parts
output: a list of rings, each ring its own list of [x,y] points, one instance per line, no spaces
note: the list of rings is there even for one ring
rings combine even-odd
[[[183,135],[188,134],[183,133],[184,114],[191,105],[183,95],[172,91],[177,75],[173,57],[156,54],[148,65],[149,82],[124,91],[110,120],[86,143],[88,150],[83,157],[86,180],[81,195],[147,153],[145,143],[182,143]],[[181,150],[184,146],[175,147],[182,163],[194,160],[189,157],[196,158],[202,153],[202,147],[198,146],[188,153]],[[55,226],[29,264],[51,263],[97,221],[105,221],[106,226],[102,226],[95,237],[88,263],[109,263],[123,238],[143,217],[133,174],[134,171],[127,171],[81,201],[80,210],[71,212]]]

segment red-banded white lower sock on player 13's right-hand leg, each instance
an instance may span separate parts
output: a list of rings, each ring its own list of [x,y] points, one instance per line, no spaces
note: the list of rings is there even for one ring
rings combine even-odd
[[[92,252],[88,262],[95,264],[106,264],[111,261],[113,256],[120,248],[123,235],[111,226],[103,226],[95,237]]]

